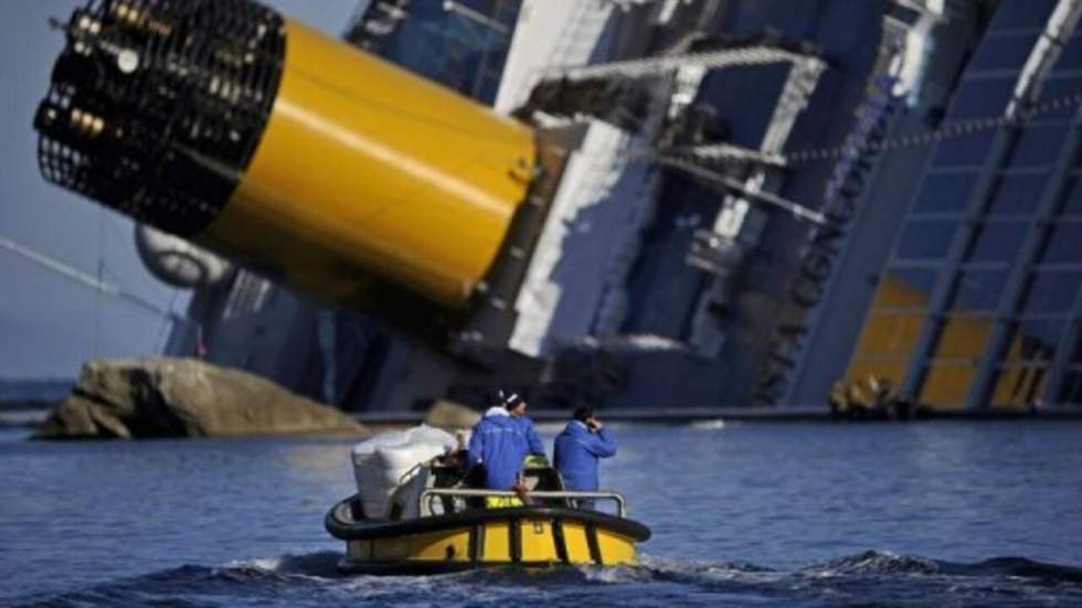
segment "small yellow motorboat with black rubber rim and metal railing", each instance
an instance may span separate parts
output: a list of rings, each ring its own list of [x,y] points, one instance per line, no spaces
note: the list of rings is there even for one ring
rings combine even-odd
[[[336,504],[327,531],[346,541],[348,574],[438,574],[489,566],[636,564],[650,530],[626,516],[616,492],[564,491],[548,466],[527,467],[523,502],[511,491],[462,487],[456,467],[418,465],[394,489],[386,518],[364,514],[361,494]],[[606,504],[614,513],[585,506]],[[492,506],[492,504],[511,504]]]

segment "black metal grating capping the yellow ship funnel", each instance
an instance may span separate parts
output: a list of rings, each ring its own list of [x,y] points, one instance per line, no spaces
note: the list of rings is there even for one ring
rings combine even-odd
[[[232,195],[282,79],[285,24],[251,0],[91,0],[34,118],[44,178],[191,236]]]

